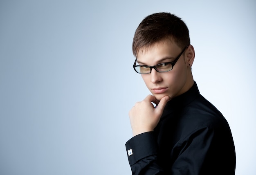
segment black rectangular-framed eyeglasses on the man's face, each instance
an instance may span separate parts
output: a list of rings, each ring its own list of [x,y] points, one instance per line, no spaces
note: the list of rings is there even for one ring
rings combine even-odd
[[[157,72],[168,72],[173,69],[173,66],[178,61],[178,59],[180,58],[180,56],[183,54],[183,52],[186,50],[187,47],[185,47],[182,50],[182,52],[177,56],[177,58],[175,58],[175,60],[172,62],[160,63],[160,64],[154,65],[154,66],[136,65],[136,62],[137,62],[137,58],[136,58],[135,62],[133,64],[133,68],[139,74],[150,74],[152,71],[152,68],[154,68]]]

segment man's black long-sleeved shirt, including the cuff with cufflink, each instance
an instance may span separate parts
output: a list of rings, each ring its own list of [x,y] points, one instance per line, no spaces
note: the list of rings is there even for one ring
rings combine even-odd
[[[196,83],[166,104],[153,132],[126,142],[133,175],[234,175],[229,124]]]

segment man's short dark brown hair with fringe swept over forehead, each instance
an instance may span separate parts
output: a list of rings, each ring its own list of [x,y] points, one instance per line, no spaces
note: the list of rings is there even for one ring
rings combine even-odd
[[[165,40],[174,39],[174,42],[183,49],[190,45],[189,29],[181,18],[171,13],[154,13],[141,21],[135,31],[132,42],[132,52],[137,56],[141,49]]]

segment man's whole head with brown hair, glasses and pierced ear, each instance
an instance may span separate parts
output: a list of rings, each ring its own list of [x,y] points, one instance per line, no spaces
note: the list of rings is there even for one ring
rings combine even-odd
[[[135,70],[157,100],[172,99],[193,85],[195,51],[188,28],[177,16],[155,13],[146,17],[135,32],[132,50]]]

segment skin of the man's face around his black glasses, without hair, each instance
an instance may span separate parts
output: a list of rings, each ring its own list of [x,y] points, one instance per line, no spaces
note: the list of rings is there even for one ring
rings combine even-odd
[[[182,49],[169,40],[161,41],[144,51],[140,51],[137,54],[137,63],[153,66],[159,63],[172,62],[182,52]],[[161,100],[164,96],[170,96],[172,99],[191,88],[188,87],[188,82],[191,83],[192,74],[186,56],[184,56],[186,51],[180,56],[173,70],[157,72],[152,69],[150,74],[141,74],[147,88],[157,100]]]

